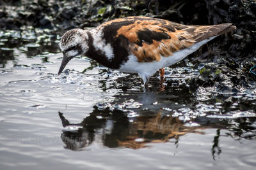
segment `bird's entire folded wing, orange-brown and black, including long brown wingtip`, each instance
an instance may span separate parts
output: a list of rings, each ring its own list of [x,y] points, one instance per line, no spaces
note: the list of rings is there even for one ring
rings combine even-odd
[[[136,55],[139,62],[150,62],[161,60],[161,56],[172,56],[173,52],[225,33],[225,30],[232,25],[189,26],[157,18],[127,18],[134,22],[118,28],[116,38],[122,35],[129,39],[129,50]],[[122,21],[122,19],[118,20]]]

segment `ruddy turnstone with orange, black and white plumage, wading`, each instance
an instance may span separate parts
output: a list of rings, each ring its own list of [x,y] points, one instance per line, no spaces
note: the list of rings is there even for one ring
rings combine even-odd
[[[184,59],[216,36],[236,29],[232,24],[182,25],[148,17],[118,18],[90,31],[72,29],[60,40],[60,71],[77,55],[86,55],[103,66],[138,73],[144,85],[159,70]]]

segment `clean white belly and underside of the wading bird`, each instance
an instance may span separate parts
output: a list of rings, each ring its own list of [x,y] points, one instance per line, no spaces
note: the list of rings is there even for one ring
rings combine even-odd
[[[172,64],[175,64],[176,62],[179,62],[180,60],[187,57],[189,54],[195,52],[198,50],[200,46],[202,46],[204,43],[207,43],[211,39],[215,38],[216,36],[205,39],[204,41],[200,41],[199,43],[196,43],[195,45],[189,46],[188,48],[185,48],[184,50],[180,50],[178,52],[173,53],[170,57],[161,57],[161,60],[159,61],[153,61],[153,62],[138,62],[138,59],[135,55],[129,55],[129,60],[125,62],[118,71],[127,72],[127,73],[138,73],[141,78],[148,78],[152,76],[158,69],[161,69],[163,67],[171,66]]]

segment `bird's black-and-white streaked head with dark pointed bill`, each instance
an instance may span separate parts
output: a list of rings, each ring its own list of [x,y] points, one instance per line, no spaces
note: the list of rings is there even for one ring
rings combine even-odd
[[[72,29],[65,32],[60,39],[60,50],[63,53],[60,74],[68,62],[77,55],[83,55],[88,50],[88,34],[83,29]]]

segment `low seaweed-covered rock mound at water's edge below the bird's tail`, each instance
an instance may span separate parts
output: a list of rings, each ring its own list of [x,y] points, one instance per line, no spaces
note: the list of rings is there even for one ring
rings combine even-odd
[[[205,64],[200,70],[200,75],[190,81],[189,89],[195,91],[198,87],[214,87],[216,92],[240,92],[239,89],[250,87],[256,80],[256,76],[253,77],[249,71],[253,61],[244,61],[241,65],[227,60],[223,63],[226,63],[226,66],[216,63]]]

